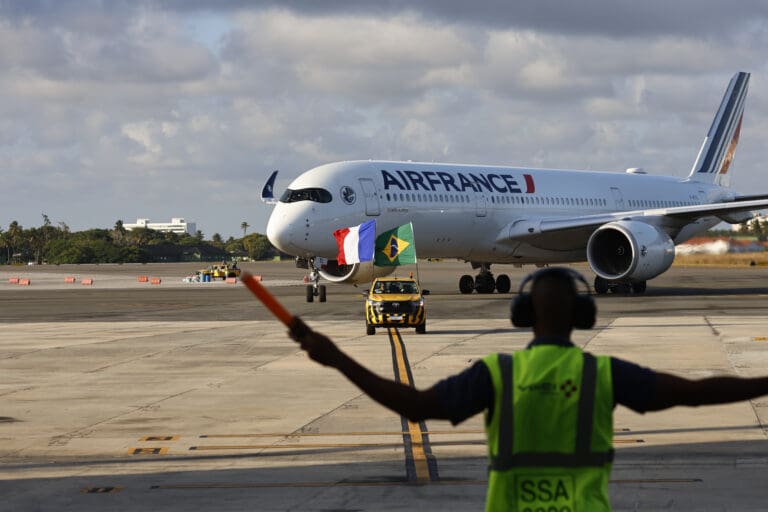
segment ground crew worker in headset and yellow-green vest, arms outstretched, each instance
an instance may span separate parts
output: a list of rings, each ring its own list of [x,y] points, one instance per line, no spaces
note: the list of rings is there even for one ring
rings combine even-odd
[[[530,293],[525,292],[531,284]],[[489,453],[486,510],[610,510],[613,408],[637,412],[707,405],[768,394],[768,378],[689,380],[608,356],[570,341],[591,328],[596,308],[577,272],[547,268],[523,280],[512,320],[534,339],[514,355],[492,354],[427,390],[384,379],[295,318],[290,335],[309,356],[336,368],[371,398],[411,421],[456,425],[485,411]]]

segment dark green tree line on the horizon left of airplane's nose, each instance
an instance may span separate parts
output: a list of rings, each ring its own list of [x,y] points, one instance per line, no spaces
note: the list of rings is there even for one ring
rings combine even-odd
[[[29,263],[147,263],[155,261],[222,261],[271,259],[278,255],[266,236],[246,234],[224,240],[215,233],[206,240],[194,235],[164,233],[147,228],[127,230],[118,220],[112,229],[71,231],[64,222],[54,225],[43,214],[43,223],[24,228],[12,221],[0,227],[0,264]]]

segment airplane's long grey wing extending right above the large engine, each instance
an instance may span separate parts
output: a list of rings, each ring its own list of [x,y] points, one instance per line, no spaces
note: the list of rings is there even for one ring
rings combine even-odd
[[[765,197],[765,196],[759,196]],[[661,225],[664,219],[678,219],[683,223],[700,217],[720,217],[726,220],[729,214],[744,214],[752,210],[768,208],[768,199],[710,203],[696,206],[676,206],[671,208],[653,208],[648,210],[628,210],[623,212],[598,213],[578,217],[524,217],[507,224],[496,238],[497,242],[519,240],[521,238],[553,233],[556,231],[598,228],[608,222],[618,220],[639,220],[649,224]],[[745,220],[750,217],[746,217]],[[727,222],[727,220],[726,220]]]

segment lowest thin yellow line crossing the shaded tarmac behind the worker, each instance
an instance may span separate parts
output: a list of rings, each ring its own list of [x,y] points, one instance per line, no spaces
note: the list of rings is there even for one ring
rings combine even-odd
[[[608,480],[611,484],[694,484],[701,483],[701,478],[646,478],[628,480]],[[448,479],[430,482],[430,485],[461,486],[487,485],[484,479]],[[160,484],[153,485],[153,490],[196,490],[196,489],[268,489],[268,488],[299,488],[299,487],[400,487],[414,485],[413,481],[402,480],[369,480],[336,482],[226,482],[226,483],[192,483],[192,484]]]

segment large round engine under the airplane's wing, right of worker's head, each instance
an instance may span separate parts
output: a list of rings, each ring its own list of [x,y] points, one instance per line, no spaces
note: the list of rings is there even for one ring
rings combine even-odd
[[[592,271],[608,280],[645,281],[667,270],[675,244],[667,233],[644,222],[622,220],[600,226],[587,242]]]

